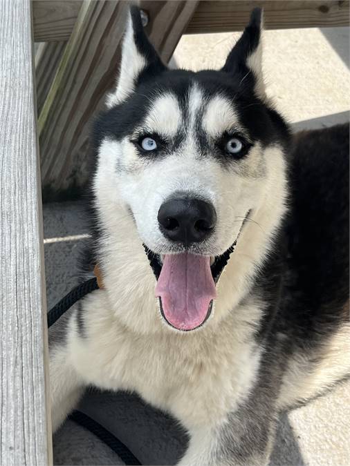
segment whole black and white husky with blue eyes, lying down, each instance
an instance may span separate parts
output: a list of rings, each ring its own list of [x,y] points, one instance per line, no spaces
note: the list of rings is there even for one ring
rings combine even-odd
[[[103,285],[51,332],[54,430],[84,387],[127,389],[187,429],[179,465],[268,463],[279,411],[349,373],[347,126],[291,135],[261,10],[221,70],[191,72],[131,6],[92,139]]]

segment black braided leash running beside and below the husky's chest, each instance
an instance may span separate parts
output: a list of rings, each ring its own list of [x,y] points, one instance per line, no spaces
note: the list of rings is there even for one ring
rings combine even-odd
[[[91,293],[91,291],[95,291],[99,289],[98,280],[97,278],[91,278],[86,282],[77,285],[77,287],[73,288],[69,293],[67,293],[62,300],[57,302],[57,304],[48,311],[48,327],[55,324],[55,322],[66,312],[70,307],[75,304],[75,302],[81,300],[87,294]],[[124,445],[116,436],[113,436],[111,432],[105,429],[102,425],[98,422],[87,416],[86,414],[82,413],[81,411],[73,411],[68,419],[73,420],[74,423],[84,427],[84,429],[89,430],[94,434],[96,437],[100,438],[100,440],[105,443],[113,452],[115,452],[122,461],[124,461],[125,465],[133,466],[133,465],[142,465],[138,458],[134,456],[127,445]]]

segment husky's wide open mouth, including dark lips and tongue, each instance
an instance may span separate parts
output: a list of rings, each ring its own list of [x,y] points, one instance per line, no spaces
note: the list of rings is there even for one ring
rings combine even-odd
[[[157,279],[156,297],[159,298],[160,312],[170,326],[190,331],[201,327],[208,320],[213,300],[217,297],[216,283],[234,251],[241,229],[234,243],[214,258],[188,251],[160,257],[144,244],[149,264]]]

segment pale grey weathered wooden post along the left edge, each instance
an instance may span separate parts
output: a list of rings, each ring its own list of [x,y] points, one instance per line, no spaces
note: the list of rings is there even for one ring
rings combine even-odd
[[[1,1],[0,70],[0,464],[42,466],[52,454],[30,0]]]

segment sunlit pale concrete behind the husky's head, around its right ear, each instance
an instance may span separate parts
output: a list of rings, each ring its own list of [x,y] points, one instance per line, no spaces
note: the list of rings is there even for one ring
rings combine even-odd
[[[185,35],[172,64],[220,68],[239,36]],[[296,128],[320,128],[349,121],[349,28],[266,30],[263,41],[268,96],[289,122]]]

